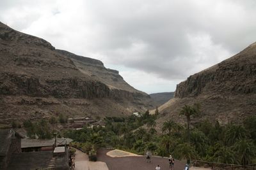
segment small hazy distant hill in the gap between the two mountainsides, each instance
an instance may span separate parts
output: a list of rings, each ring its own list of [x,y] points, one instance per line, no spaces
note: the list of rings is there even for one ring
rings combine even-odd
[[[161,106],[173,98],[174,92],[154,93],[149,96],[153,99],[156,106]]]

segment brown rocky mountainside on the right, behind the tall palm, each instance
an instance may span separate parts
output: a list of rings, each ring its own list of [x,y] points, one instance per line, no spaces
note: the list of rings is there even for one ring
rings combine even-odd
[[[227,60],[196,73],[177,85],[175,97],[159,107],[159,122],[183,122],[184,104],[200,103],[202,116],[194,120],[241,122],[256,110],[256,43]]]

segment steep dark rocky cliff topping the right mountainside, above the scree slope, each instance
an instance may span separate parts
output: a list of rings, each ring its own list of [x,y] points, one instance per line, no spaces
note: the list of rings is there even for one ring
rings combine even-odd
[[[226,95],[256,93],[256,43],[243,52],[205,71],[189,76],[177,85],[175,97],[195,97],[200,94]]]

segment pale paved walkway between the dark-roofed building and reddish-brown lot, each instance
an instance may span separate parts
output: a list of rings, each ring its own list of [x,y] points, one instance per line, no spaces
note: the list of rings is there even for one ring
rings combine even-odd
[[[90,162],[88,155],[76,150],[75,170],[109,170],[105,162]]]

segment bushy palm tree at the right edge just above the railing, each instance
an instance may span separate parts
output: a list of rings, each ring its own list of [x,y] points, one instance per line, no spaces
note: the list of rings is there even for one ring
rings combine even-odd
[[[243,166],[251,164],[253,157],[256,156],[256,147],[252,140],[241,139],[234,145],[234,150],[237,152],[237,159]]]

